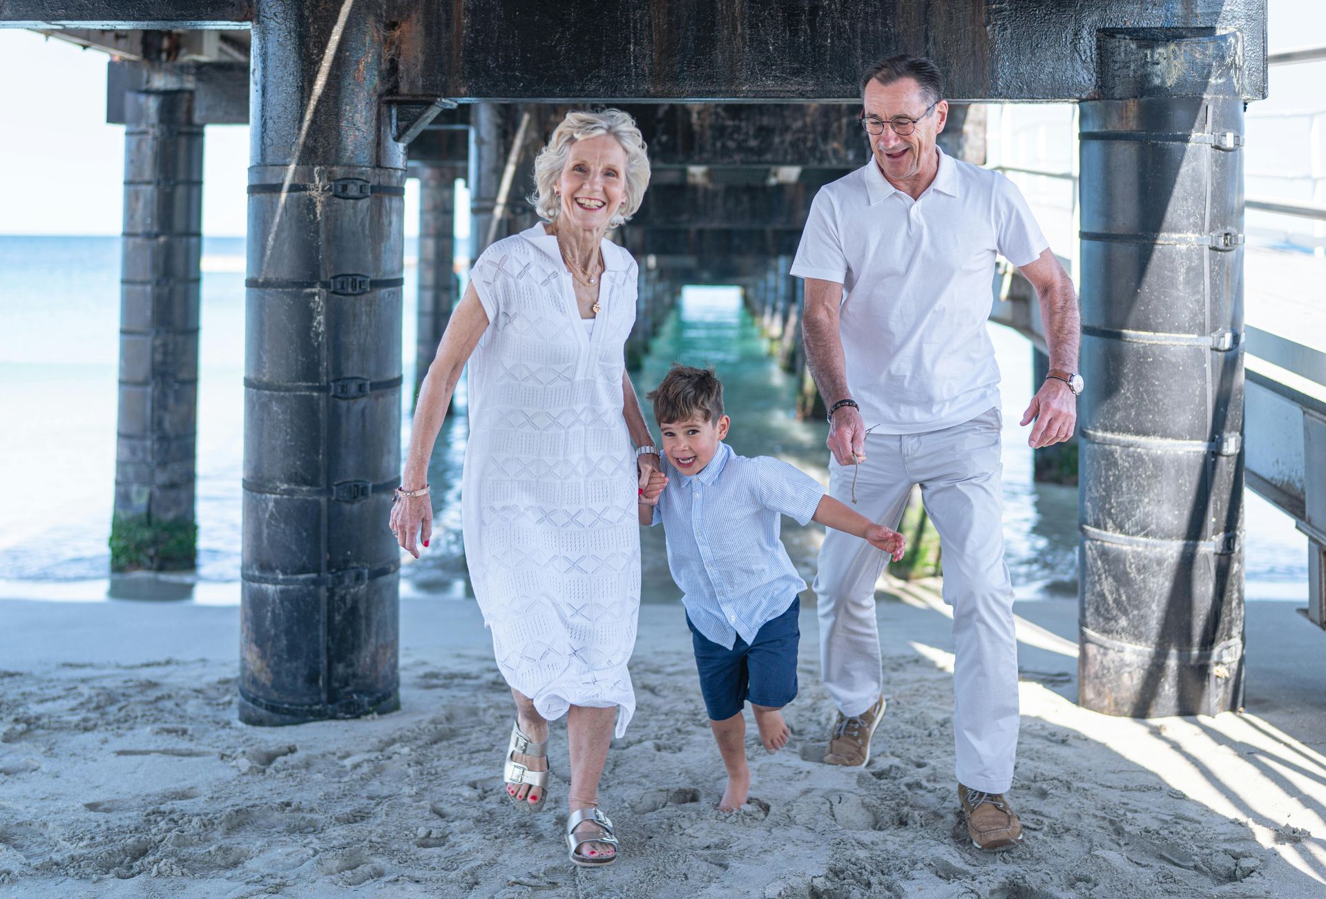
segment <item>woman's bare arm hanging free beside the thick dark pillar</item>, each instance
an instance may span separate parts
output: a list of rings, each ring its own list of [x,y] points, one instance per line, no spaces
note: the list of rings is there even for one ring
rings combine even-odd
[[[488,313],[484,312],[475,285],[471,284],[465,288],[465,296],[451,312],[447,330],[443,331],[442,342],[438,345],[438,355],[434,357],[428,374],[419,387],[414,424],[410,428],[410,450],[400,472],[400,489],[416,491],[428,483],[428,459],[432,457],[432,447],[451,404],[451,395],[456,390],[465,362],[469,361],[487,329]],[[422,533],[423,544],[427,546],[432,536],[432,501],[428,496],[398,500],[391,507],[391,530],[400,545],[419,558],[416,537]]]

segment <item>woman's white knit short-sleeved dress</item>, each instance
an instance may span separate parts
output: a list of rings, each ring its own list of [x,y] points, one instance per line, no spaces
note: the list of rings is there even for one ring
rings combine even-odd
[[[635,712],[626,662],[640,603],[635,453],[622,418],[636,265],[603,241],[586,333],[557,239],[499,240],[471,281],[488,330],[469,358],[461,483],[465,561],[503,676],[557,719]]]

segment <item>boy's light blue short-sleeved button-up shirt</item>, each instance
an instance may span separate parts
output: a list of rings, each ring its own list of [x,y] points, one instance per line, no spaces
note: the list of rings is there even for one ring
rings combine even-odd
[[[785,461],[747,459],[725,443],[695,475],[663,465],[668,484],[652,524],[667,530],[668,568],[691,623],[729,650],[739,634],[751,643],[806,589],[778,538],[780,516],[806,524],[825,488]]]

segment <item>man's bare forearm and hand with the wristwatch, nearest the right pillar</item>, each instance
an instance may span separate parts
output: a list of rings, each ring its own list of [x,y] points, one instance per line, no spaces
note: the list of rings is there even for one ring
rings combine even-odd
[[[1041,304],[1041,326],[1050,349],[1050,367],[1061,371],[1078,370],[1078,346],[1082,342],[1082,321],[1078,316],[1077,292],[1073,280],[1049,249],[1018,272],[1036,288]],[[1077,396],[1058,378],[1046,378],[1032,404],[1022,412],[1022,424],[1036,419],[1028,443],[1033,448],[1049,447],[1073,436],[1077,427]]]

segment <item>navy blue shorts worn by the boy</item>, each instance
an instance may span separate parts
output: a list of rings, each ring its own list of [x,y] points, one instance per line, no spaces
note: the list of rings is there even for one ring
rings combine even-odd
[[[686,617],[709,720],[728,720],[745,708],[747,700],[781,708],[797,697],[800,613],[801,598],[797,597],[788,611],[764,623],[754,635],[754,643],[748,644],[739,634],[731,650],[700,634],[691,617]]]

